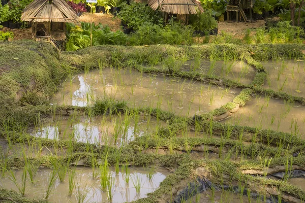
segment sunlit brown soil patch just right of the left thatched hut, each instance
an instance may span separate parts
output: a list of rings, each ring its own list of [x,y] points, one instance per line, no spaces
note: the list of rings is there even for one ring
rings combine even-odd
[[[108,25],[111,31],[121,30],[120,27],[120,19],[113,18],[111,14],[103,14],[103,13],[84,13],[82,16],[78,18],[80,22],[90,22],[90,17],[92,17],[92,22],[96,25],[102,23],[103,25]]]

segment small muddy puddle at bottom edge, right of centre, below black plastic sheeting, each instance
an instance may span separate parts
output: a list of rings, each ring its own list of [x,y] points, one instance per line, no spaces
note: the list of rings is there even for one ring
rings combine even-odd
[[[201,192],[190,199],[188,199],[187,203],[199,203],[199,202],[206,202],[206,203],[216,203],[216,202],[224,202],[224,203],[240,203],[240,202],[256,202],[255,199],[250,198],[249,201],[248,196],[245,195],[238,195],[234,192],[230,191],[214,191],[206,190]]]

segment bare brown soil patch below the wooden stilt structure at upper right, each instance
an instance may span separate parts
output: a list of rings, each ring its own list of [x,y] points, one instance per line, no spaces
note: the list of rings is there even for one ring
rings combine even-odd
[[[223,21],[218,23],[218,33],[225,31],[231,33],[235,37],[242,37],[248,28],[258,28],[265,25],[264,20],[256,20],[254,22],[231,22]]]

